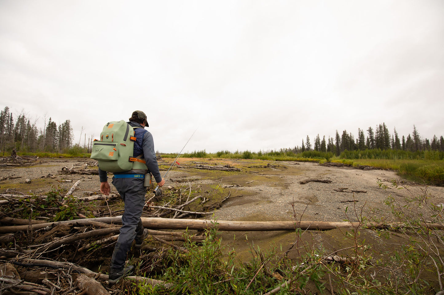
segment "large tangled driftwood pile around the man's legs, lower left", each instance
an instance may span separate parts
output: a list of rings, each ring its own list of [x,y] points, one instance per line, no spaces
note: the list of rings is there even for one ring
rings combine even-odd
[[[115,292],[107,283],[107,275],[88,266],[104,265],[104,270],[107,271],[121,223],[121,216],[114,216],[123,212],[123,204],[118,194],[75,196],[78,195],[79,183],[77,181],[67,192],[57,191],[57,194],[54,191],[45,195],[25,195],[17,191],[0,194],[0,212],[7,212],[0,213],[1,294],[69,295]],[[203,205],[208,198],[202,195],[193,197],[193,193],[191,185],[185,189],[166,188],[163,196],[150,198],[144,214],[170,217],[170,220],[187,215],[205,216],[206,212],[197,211],[206,210]],[[88,208],[82,206],[82,201],[88,202]],[[71,218],[75,220],[48,222],[61,212],[69,213],[73,204],[77,211],[76,216]],[[159,204],[162,205],[158,206]],[[190,208],[195,211],[190,211]],[[95,211],[88,211],[91,209]],[[24,212],[36,215],[40,220],[11,217],[24,215]],[[86,215],[91,214],[105,217],[86,218]],[[156,230],[147,225],[145,227],[149,229],[148,243],[143,244],[140,250],[133,248],[134,253],[131,255],[139,255],[139,260],[148,264],[147,272],[148,268],[151,269],[151,254],[157,255],[166,247],[186,252],[185,248],[177,245],[178,242],[181,245],[185,240],[199,242],[204,239],[204,236]],[[152,243],[149,242],[150,239]],[[127,279],[170,286],[147,277],[131,276]]]

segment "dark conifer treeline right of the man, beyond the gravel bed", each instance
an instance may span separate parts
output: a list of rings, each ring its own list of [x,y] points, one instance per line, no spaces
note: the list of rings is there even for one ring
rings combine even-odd
[[[319,134],[312,145],[309,136],[301,146],[281,148],[267,151],[218,151],[215,154],[206,153],[205,150],[183,154],[185,157],[211,157],[238,158],[238,159],[270,159],[270,160],[294,160],[294,159],[327,159],[333,156],[343,159],[444,159],[444,138],[433,136],[432,140],[421,139],[416,126],[413,125],[412,135],[398,136],[396,129],[394,134],[389,133],[385,123],[377,125],[375,129],[369,127],[367,136],[364,130],[358,128],[358,137],[344,130],[339,135],[322,140]]]

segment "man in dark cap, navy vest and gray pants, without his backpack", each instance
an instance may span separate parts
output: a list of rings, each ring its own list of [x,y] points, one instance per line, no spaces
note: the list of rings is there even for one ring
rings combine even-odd
[[[115,173],[112,179],[112,184],[119,191],[120,197],[125,203],[125,210],[122,216],[122,227],[120,228],[119,238],[117,239],[111,257],[108,279],[110,283],[117,283],[123,276],[129,276],[134,272],[133,265],[125,266],[131,244],[133,240],[135,240],[136,247],[141,247],[143,240],[145,240],[148,235],[148,230],[143,229],[140,218],[145,204],[146,193],[142,175],[145,176],[145,174],[151,172],[159,186],[163,186],[165,183],[165,180],[162,179],[159,172],[153,136],[144,129],[145,126],[148,127],[147,115],[142,111],[135,111],[129,120],[130,122],[128,122],[128,124],[134,128],[134,137],[136,137],[133,157],[138,157],[142,161],[144,160],[146,167],[144,165],[140,166],[140,163],[137,163],[139,167],[133,165],[133,170]],[[108,195],[111,187],[108,183],[107,172],[100,170],[100,168],[99,179],[100,192]]]

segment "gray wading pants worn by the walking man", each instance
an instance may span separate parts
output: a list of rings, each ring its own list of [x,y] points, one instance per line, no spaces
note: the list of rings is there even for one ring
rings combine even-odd
[[[135,237],[143,234],[142,216],[145,205],[146,187],[144,179],[139,178],[114,178],[112,184],[119,191],[120,197],[125,203],[125,211],[122,216],[122,227],[119,238],[115,244],[111,257],[110,268],[122,268],[127,260],[128,252]]]

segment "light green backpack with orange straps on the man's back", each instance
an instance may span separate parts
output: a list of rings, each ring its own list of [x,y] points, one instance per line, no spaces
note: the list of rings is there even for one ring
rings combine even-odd
[[[134,127],[140,128],[140,127]],[[100,140],[92,142],[91,159],[98,162],[99,168],[107,172],[123,172],[133,169],[147,169],[145,160],[133,157],[134,128],[125,122],[108,122],[100,133]]]

